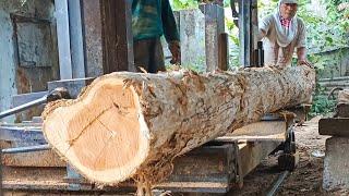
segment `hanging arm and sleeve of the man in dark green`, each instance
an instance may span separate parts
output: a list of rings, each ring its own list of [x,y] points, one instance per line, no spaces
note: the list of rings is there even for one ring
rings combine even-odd
[[[168,42],[169,50],[172,53],[172,64],[180,63],[181,50],[180,50],[180,37],[177,29],[174,15],[169,0],[161,1],[161,20],[163,28],[166,41]]]

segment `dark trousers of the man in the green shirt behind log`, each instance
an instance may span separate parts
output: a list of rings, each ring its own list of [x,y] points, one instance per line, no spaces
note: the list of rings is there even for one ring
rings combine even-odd
[[[142,39],[133,42],[134,64],[139,72],[142,66],[148,73],[166,71],[160,38]]]

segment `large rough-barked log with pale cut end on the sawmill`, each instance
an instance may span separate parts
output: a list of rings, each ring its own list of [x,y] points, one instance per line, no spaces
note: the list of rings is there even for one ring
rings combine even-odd
[[[111,73],[76,100],[48,105],[43,130],[52,148],[88,180],[117,184],[133,177],[152,184],[170,174],[176,157],[267,112],[309,101],[314,82],[308,66]]]

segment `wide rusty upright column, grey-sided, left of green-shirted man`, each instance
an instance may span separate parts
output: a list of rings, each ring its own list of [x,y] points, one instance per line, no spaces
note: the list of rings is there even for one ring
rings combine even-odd
[[[130,0],[84,0],[87,77],[133,68]]]

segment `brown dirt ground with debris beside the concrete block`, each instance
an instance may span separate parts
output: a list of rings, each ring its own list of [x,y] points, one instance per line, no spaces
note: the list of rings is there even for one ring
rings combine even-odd
[[[349,195],[348,191],[326,192],[322,188],[323,162],[327,136],[318,135],[318,120],[313,118],[296,128],[297,149],[300,155],[298,168],[288,175],[277,195]],[[269,156],[244,179],[241,191],[228,195],[264,195],[281,172],[276,156]]]

